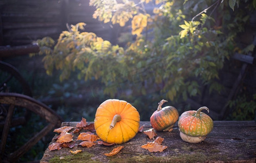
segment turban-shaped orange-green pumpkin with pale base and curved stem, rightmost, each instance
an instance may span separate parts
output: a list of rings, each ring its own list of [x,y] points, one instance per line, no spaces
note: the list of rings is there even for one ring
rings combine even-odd
[[[203,106],[197,111],[185,111],[180,115],[178,126],[182,140],[198,143],[203,141],[210,131],[213,130],[213,120],[207,114],[201,112],[203,109],[209,112],[209,109]]]

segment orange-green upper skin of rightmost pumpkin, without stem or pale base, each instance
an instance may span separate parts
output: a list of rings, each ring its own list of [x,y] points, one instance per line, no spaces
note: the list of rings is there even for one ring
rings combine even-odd
[[[206,136],[213,130],[213,120],[200,112],[200,116],[196,116],[195,110],[185,111],[179,117],[178,126],[182,133],[189,136]]]

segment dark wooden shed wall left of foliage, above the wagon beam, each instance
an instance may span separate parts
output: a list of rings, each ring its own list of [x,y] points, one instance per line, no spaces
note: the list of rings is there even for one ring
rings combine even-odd
[[[0,0],[0,46],[27,45],[45,36],[58,39],[66,24],[85,22],[85,31],[115,43],[116,27],[92,18],[90,0]]]

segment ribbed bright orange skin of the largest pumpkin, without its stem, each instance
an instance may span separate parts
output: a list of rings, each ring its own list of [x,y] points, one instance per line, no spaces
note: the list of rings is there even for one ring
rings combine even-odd
[[[110,129],[110,124],[116,114],[121,116],[121,121]],[[99,105],[94,126],[96,134],[101,140],[121,144],[129,141],[138,133],[140,115],[130,103],[118,99],[108,99]]]

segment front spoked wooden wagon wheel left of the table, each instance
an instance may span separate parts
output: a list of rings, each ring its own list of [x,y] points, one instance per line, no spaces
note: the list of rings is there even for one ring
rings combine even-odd
[[[32,146],[34,146],[43,136],[47,135],[49,131],[53,129],[55,126],[60,126],[63,119],[56,114],[51,108],[48,108],[47,105],[36,101],[34,98],[21,95],[19,93],[0,93],[0,104],[8,106],[8,114],[5,119],[4,128],[2,131],[2,140],[0,145],[0,160],[14,162],[24,153],[26,153]],[[43,128],[39,133],[34,135],[28,142],[24,143],[22,147],[17,149],[11,154],[8,154],[4,157],[5,146],[7,142],[7,137],[9,133],[9,129],[12,123],[12,117],[14,113],[14,108],[16,106],[20,106],[22,108],[26,108],[30,111],[33,111],[35,114],[39,115],[43,119],[45,119],[49,124]]]

